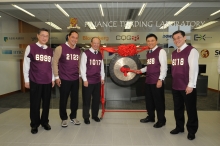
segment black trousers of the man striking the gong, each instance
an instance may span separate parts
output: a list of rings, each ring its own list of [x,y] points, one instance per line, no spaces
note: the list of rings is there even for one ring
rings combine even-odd
[[[164,83],[161,88],[157,88],[156,84],[145,84],[145,87],[145,102],[149,118],[155,119],[156,110],[158,122],[166,123]]]

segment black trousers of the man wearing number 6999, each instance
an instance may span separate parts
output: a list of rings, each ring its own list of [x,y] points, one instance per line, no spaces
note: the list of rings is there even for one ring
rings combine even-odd
[[[49,123],[49,109],[52,83],[37,84],[30,81],[30,119],[31,127],[39,127]],[[42,113],[40,107],[42,99]]]

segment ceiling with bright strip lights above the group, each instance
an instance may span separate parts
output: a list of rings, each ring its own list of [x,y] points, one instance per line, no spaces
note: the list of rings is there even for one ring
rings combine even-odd
[[[123,32],[125,31],[124,26],[121,25],[120,21],[133,20],[137,22],[152,21],[153,25],[158,22],[165,21],[220,21],[220,13],[210,16],[211,13],[220,10],[220,2],[193,2],[190,7],[181,12],[178,16],[174,14],[182,8],[187,2],[151,2],[147,3],[145,10],[141,16],[137,16],[143,2],[106,2],[101,3],[104,11],[104,17],[100,14],[99,4],[97,2],[57,2],[69,15],[66,17],[54,3],[17,3],[19,7],[31,12],[35,17],[29,16],[26,13],[13,7],[12,3],[0,3],[0,12],[13,16],[17,19],[23,20],[38,28],[45,27],[49,28],[46,21],[51,21],[62,28],[62,30],[52,31],[56,32],[67,32],[67,27],[70,24],[70,18],[78,19],[78,26],[81,28],[80,32]],[[98,25],[96,30],[89,29],[85,26],[86,21],[92,21]],[[100,24],[108,23],[111,21],[117,22],[117,27],[101,27]],[[112,24],[112,23],[111,23]],[[215,23],[207,28],[220,27],[220,22]],[[131,32],[159,32],[166,31],[160,30],[156,26],[137,26],[132,27]]]

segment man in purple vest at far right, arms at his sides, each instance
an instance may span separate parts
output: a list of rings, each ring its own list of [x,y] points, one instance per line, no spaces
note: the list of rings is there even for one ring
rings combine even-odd
[[[184,31],[178,30],[173,33],[172,37],[174,44],[177,46],[177,49],[173,51],[171,56],[172,94],[176,128],[170,133],[178,134],[184,132],[184,109],[186,107],[188,115],[188,121],[186,123],[188,130],[187,138],[193,140],[198,129],[196,81],[198,76],[199,53],[195,48],[186,44]]]

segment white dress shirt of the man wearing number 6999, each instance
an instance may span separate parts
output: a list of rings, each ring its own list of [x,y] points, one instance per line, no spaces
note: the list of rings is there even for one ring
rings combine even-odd
[[[42,49],[47,49],[47,45],[41,45],[39,42],[36,43],[39,47],[42,47]],[[30,45],[27,46],[24,54],[24,62],[23,62],[23,74],[24,74],[24,82],[29,82],[29,70],[30,70],[30,58],[27,57],[30,53]],[[52,67],[52,59],[51,59],[51,67]],[[54,81],[54,75],[52,72],[52,81]]]

